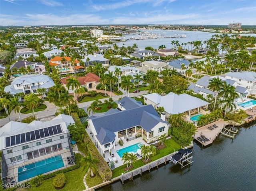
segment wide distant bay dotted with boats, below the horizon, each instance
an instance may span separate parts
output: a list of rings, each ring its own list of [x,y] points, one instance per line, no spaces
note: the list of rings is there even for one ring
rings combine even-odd
[[[221,35],[221,33],[210,33],[210,32],[201,32],[201,31],[177,31],[177,30],[143,30],[143,32],[150,32],[150,33],[156,33],[156,34],[161,34],[164,36],[175,36],[176,34],[178,35],[186,35],[186,38],[158,38],[158,39],[143,39],[143,40],[128,40],[126,42],[118,42],[116,43],[119,47],[121,46],[132,46],[134,43],[138,45],[139,49],[144,49],[147,46],[151,46],[154,49],[158,49],[160,45],[166,45],[167,48],[172,48],[173,45],[171,45],[171,41],[173,40],[178,40],[179,43],[187,43],[191,41],[205,41],[208,40],[212,37],[214,34]],[[232,34],[229,34],[232,35]],[[240,34],[240,35],[251,35],[251,36],[256,36],[256,34]],[[128,37],[140,37],[141,35],[135,35],[135,34],[129,34],[125,35],[126,38]],[[205,45],[202,45],[204,47]],[[184,47],[184,46],[183,46]],[[190,45],[191,47],[191,45]],[[189,49],[190,49],[189,47]],[[186,48],[188,49],[188,45],[186,45]]]

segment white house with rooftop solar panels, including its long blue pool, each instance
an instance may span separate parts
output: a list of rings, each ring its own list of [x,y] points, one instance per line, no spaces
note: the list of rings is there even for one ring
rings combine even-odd
[[[11,121],[0,128],[3,183],[22,183],[74,165],[67,126],[71,116],[30,124]]]

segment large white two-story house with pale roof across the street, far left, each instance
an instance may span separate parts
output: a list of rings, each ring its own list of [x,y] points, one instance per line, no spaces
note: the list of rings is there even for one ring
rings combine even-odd
[[[16,93],[23,92],[25,94],[36,93],[38,88],[45,88],[49,91],[53,87],[54,81],[47,75],[43,74],[30,74],[16,77],[11,85],[4,87],[5,92],[15,95]]]

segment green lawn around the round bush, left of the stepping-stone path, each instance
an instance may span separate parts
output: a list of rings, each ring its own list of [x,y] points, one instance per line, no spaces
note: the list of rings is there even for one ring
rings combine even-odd
[[[69,172],[65,173],[66,176],[66,185],[62,188],[62,191],[82,191],[85,189],[84,186],[84,175],[86,172],[83,170],[83,163],[80,164],[81,167]],[[46,179],[42,181],[42,185],[36,187],[34,185],[31,186],[28,191],[52,191],[55,190],[54,186],[52,185],[54,177]]]

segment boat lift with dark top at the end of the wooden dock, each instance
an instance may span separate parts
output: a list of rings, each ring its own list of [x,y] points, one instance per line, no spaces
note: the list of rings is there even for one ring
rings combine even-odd
[[[192,154],[191,149],[179,149],[178,153],[176,153],[174,156],[172,156],[172,158],[170,158],[170,162],[173,162],[174,164],[179,163],[181,165],[181,168],[183,168],[194,162],[192,161],[193,156],[190,156],[190,154]]]

